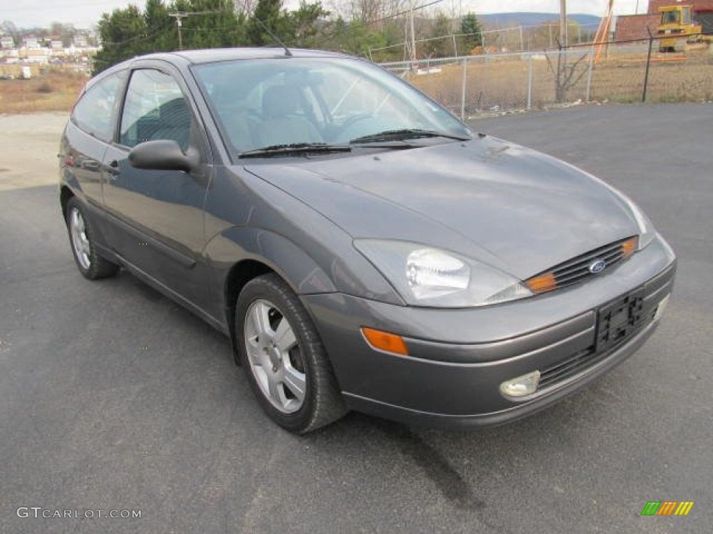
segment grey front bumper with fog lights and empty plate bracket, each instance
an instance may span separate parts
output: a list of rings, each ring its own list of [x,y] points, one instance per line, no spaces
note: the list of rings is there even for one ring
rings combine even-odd
[[[535,298],[458,310],[401,307],[341,293],[303,295],[347,405],[426,426],[489,426],[552,404],[615,367],[654,332],[675,258],[660,237],[605,276]],[[637,320],[615,342],[602,310],[637,297]],[[633,321],[632,321],[633,322]],[[409,356],[375,350],[362,326],[404,337]],[[513,399],[508,379],[540,370],[538,390]]]

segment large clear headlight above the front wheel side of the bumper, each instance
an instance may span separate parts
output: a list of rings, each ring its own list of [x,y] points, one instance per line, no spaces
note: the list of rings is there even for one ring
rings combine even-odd
[[[506,273],[437,248],[378,239],[356,239],[354,246],[410,305],[468,308],[533,294]]]

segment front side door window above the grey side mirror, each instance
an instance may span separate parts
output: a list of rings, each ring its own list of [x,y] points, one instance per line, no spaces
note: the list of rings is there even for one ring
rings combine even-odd
[[[129,81],[121,115],[119,142],[169,139],[185,151],[190,141],[190,110],[178,82],[153,69],[135,70]]]

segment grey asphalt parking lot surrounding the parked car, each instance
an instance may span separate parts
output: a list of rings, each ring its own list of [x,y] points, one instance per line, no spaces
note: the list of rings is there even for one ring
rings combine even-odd
[[[642,350],[508,426],[350,414],[304,437],[262,414],[225,337],[127,273],[80,276],[56,200],[64,120],[0,117],[0,532],[710,531],[712,104],[473,122],[622,189],[670,241],[674,298]],[[694,506],[642,517],[647,501]]]

